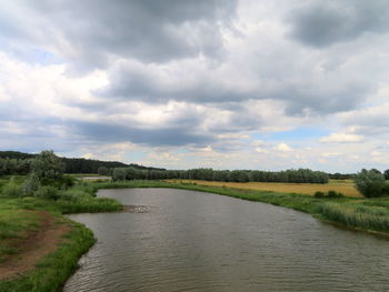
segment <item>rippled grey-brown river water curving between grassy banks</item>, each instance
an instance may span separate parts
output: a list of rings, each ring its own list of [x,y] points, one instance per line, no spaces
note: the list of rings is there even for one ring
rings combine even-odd
[[[389,291],[389,241],[290,209],[172,189],[101,190],[147,213],[76,214],[97,244],[66,292]]]

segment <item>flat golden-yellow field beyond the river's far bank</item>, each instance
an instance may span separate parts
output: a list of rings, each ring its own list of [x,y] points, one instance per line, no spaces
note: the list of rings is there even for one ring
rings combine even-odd
[[[361,197],[351,180],[330,180],[328,184],[318,183],[283,183],[283,182],[222,182],[222,181],[199,181],[199,180],[169,180],[171,182],[196,182],[197,184],[228,187],[236,189],[249,189],[260,191],[273,191],[286,193],[313,194],[316,191],[328,192],[330,190],[341,192],[347,197]]]

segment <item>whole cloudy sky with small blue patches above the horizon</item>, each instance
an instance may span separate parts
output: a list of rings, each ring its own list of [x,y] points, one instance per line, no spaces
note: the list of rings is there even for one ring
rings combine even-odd
[[[387,0],[0,4],[0,149],[389,169]]]

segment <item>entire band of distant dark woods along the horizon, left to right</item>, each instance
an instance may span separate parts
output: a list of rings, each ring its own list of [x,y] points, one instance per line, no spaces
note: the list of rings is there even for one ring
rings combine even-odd
[[[27,174],[31,161],[38,154],[18,151],[0,151],[0,175]],[[82,158],[61,158],[66,173],[99,173],[112,175],[113,179],[197,179],[215,181],[261,181],[261,182],[316,182],[326,183],[328,179],[352,179],[353,173],[325,173],[308,169],[287,170],[279,172],[258,170],[166,170],[143,167],[134,163],[126,164],[118,161],[100,161]]]

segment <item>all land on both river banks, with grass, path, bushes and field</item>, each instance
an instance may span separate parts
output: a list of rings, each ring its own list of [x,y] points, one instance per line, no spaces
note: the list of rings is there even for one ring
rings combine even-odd
[[[90,230],[64,214],[123,210],[116,200],[96,198],[99,189],[210,192],[291,208],[348,228],[389,235],[388,183],[375,170],[362,170],[353,180],[335,181],[310,170],[167,171],[103,165],[99,173],[112,177],[112,181],[86,182],[78,179],[82,174],[63,174],[64,163],[52,151],[28,159],[28,174],[20,175],[14,168],[0,177],[0,291],[62,288],[79,258],[96,241]]]

